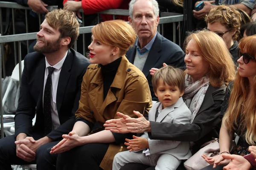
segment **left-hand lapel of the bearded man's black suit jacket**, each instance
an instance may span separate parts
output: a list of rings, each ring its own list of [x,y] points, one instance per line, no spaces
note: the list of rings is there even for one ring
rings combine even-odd
[[[38,62],[38,66],[35,70],[35,87],[37,87],[37,94],[39,94],[39,99],[37,103],[37,110],[43,108],[43,89],[44,89],[44,73],[45,73],[45,57],[41,57]]]

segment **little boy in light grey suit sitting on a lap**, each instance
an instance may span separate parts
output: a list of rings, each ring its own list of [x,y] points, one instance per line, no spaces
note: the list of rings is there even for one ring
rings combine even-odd
[[[183,102],[185,76],[179,68],[160,68],[152,78],[153,90],[160,102],[153,105],[148,113],[149,121],[186,124],[190,122],[191,111]],[[189,159],[189,142],[151,140],[148,133],[125,139],[127,149],[117,153],[113,170],[119,170],[128,163],[156,166],[155,170],[176,170],[184,159]]]

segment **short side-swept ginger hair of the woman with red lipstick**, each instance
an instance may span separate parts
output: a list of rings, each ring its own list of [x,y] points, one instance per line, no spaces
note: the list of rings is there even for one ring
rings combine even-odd
[[[136,39],[134,29],[123,20],[99,23],[92,28],[92,34],[95,39],[104,44],[118,47],[121,55],[124,55],[132,47]]]

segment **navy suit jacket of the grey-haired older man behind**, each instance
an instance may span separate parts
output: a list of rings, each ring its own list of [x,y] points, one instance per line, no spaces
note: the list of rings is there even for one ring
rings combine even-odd
[[[132,64],[134,64],[134,58],[136,54],[135,44],[136,41],[134,43],[134,46],[126,52],[126,57]],[[157,37],[154,40],[154,43],[148,53],[148,57],[142,70],[143,74],[148,79],[148,85],[150,88],[152,100],[157,101],[158,99],[153,91],[153,86],[151,82],[152,76],[150,75],[149,70],[151,68],[163,67],[164,62],[167,65],[172,65],[174,67],[184,67],[184,57],[184,52],[177,44],[170,40],[167,40],[165,37],[157,32]]]

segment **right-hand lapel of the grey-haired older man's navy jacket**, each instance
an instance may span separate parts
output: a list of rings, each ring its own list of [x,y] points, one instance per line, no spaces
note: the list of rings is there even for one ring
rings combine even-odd
[[[154,67],[154,65],[157,63],[158,59],[160,58],[161,54],[160,51],[162,49],[162,37],[157,32],[157,37],[154,40],[154,43],[148,53],[148,57],[146,59],[145,65],[143,67],[143,74],[145,77],[148,77],[149,70]],[[135,51],[135,50],[134,50]],[[135,54],[134,54],[135,56]]]

